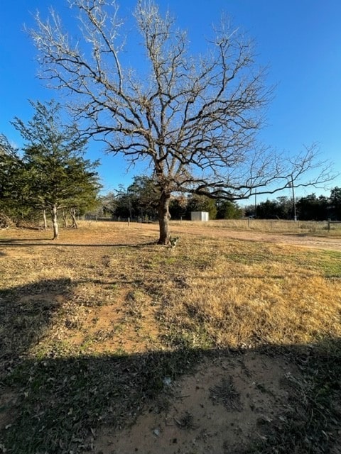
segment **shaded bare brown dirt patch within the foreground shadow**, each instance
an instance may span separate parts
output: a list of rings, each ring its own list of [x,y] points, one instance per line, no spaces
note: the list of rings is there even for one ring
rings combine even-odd
[[[261,353],[210,360],[194,375],[165,377],[167,409],[146,406],[131,428],[104,428],[94,441],[102,454],[237,453],[266,441],[267,425],[285,418],[288,375],[298,371],[283,358]]]

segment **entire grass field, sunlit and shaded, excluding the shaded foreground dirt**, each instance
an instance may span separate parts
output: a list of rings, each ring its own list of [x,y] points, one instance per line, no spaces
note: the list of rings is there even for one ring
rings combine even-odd
[[[296,375],[276,418],[233,452],[341,452],[341,252],[228,238],[228,223],[177,228],[175,248],[152,224],[85,221],[55,241],[1,231],[0,452],[117,452],[97,448],[102,428],[167,411],[165,379],[246,352]]]

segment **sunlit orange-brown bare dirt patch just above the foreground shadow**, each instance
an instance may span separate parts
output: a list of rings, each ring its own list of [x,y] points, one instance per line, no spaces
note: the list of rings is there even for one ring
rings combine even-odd
[[[150,298],[143,295],[144,299],[136,301],[131,297],[134,292],[122,288],[115,289],[112,298],[102,306],[78,305],[83,294],[85,289],[78,299],[76,296],[70,301],[69,314],[58,330],[72,349],[86,348],[88,354],[96,355],[112,351],[134,354],[146,352],[151,342],[157,341],[156,308]]]

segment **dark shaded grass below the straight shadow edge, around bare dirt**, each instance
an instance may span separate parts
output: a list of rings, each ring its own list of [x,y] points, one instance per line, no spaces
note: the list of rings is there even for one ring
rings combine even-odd
[[[227,446],[222,441],[219,452],[339,453],[341,392],[335,361],[340,362],[340,341],[337,348],[337,356],[330,355],[330,347],[323,344],[310,346],[308,351],[306,345],[249,350],[259,361],[270,355],[276,362],[295,362],[300,375],[289,375],[288,382],[283,382],[290,394],[286,402],[273,396],[278,414],[269,411],[268,416],[266,409],[255,409],[259,411],[257,436],[251,438],[249,446],[224,450]],[[173,392],[166,389],[166,380],[173,383],[194,372],[200,360],[217,363],[234,355],[242,364],[245,354],[243,350],[180,349],[171,353],[26,360],[6,380],[12,389],[18,389],[19,397],[16,418],[3,431],[4,446],[20,454],[94,452],[99,428],[106,426],[121,433],[146,411],[166,414]],[[227,378],[236,373],[225,370]],[[249,377],[249,384],[252,380]],[[257,385],[264,386],[262,382]],[[264,387],[262,392],[269,391]],[[234,411],[237,416],[240,410]]]

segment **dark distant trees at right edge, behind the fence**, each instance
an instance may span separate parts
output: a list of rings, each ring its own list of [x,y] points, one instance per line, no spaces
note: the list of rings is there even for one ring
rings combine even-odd
[[[308,196],[296,199],[296,216],[301,221],[341,220],[341,188],[335,187],[330,196]],[[259,219],[293,219],[294,204],[290,197],[278,197],[276,200],[262,201],[245,207],[245,216]]]

